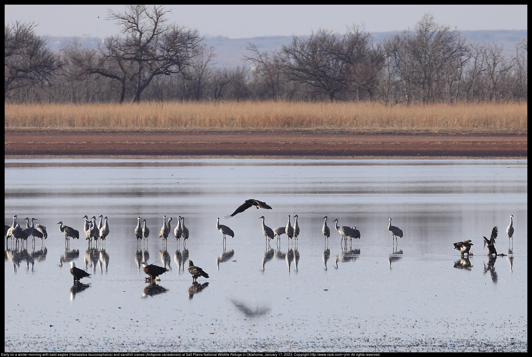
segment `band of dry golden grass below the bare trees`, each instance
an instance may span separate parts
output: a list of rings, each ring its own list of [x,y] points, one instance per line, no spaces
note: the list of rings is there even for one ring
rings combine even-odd
[[[4,129],[328,129],[352,132],[526,132],[527,104],[141,103],[5,104]]]

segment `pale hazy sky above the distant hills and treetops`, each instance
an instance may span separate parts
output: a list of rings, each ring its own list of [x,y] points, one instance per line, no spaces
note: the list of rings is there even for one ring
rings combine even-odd
[[[35,22],[38,35],[106,37],[119,28],[107,9],[124,5],[4,5],[4,23]],[[166,5],[170,22],[202,35],[250,38],[309,35],[319,28],[345,32],[346,25],[385,32],[413,28],[423,14],[459,30],[526,30],[527,5]],[[98,18],[99,16],[99,18]]]

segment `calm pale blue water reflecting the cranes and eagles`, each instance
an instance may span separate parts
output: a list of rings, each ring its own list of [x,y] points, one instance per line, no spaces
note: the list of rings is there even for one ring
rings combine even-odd
[[[7,243],[6,351],[528,349],[527,160],[6,159],[4,172],[5,223],[48,231],[44,246]],[[250,198],[273,209],[223,219]],[[498,226],[508,254],[512,214],[513,253],[489,260],[482,236]],[[85,215],[109,217],[105,247],[65,248],[56,223],[83,235]],[[186,249],[163,245],[163,215],[172,231],[185,217]],[[271,228],[298,215],[298,243],[267,245],[262,215]],[[217,217],[235,232],[225,250]],[[342,247],[335,218],[361,239]],[[143,259],[171,270],[149,286]],[[188,259],[210,275],[201,287]],[[85,288],[70,261],[93,274]]]

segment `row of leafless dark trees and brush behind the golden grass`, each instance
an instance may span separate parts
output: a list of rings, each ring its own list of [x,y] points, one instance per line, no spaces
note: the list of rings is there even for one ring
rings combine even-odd
[[[220,67],[197,30],[169,24],[162,6],[109,12],[121,28],[97,49],[74,42],[52,53],[33,24],[5,26],[5,100],[95,103],[140,100],[352,100],[404,103],[526,101],[527,40],[513,56],[468,43],[423,16],[376,43],[359,27],[320,29],[278,51],[248,44],[243,65]]]

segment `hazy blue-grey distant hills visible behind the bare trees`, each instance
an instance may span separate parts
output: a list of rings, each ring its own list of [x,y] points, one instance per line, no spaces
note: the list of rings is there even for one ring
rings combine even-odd
[[[372,32],[376,41],[381,41],[394,32]],[[521,41],[528,37],[528,30],[478,30],[460,31],[463,36],[470,41],[495,41],[504,46],[506,54],[514,53],[516,41]],[[54,51],[59,51],[62,45],[72,43],[74,37],[45,36],[49,41],[49,46]],[[102,43],[102,38],[97,37],[77,37],[83,47],[96,48]],[[244,64],[242,57],[246,53],[248,43],[254,44],[261,52],[280,49],[282,45],[292,42],[292,36],[268,36],[252,38],[229,38],[223,36],[206,37],[205,43],[215,47],[217,55],[216,61],[219,66],[241,66]]]

